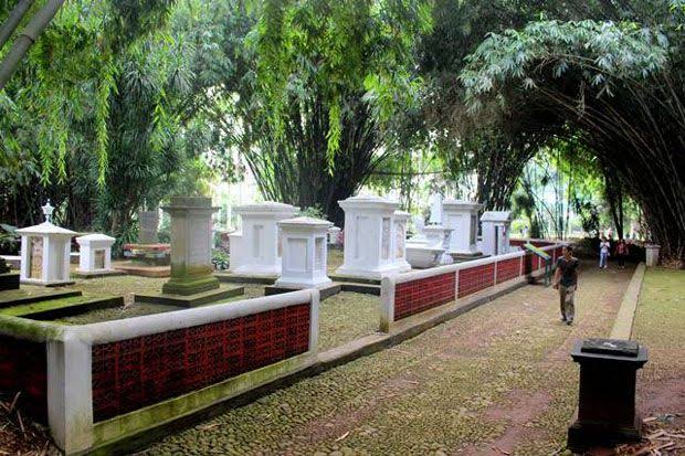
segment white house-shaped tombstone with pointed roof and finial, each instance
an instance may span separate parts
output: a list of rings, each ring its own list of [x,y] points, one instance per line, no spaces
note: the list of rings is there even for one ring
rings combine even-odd
[[[43,206],[45,221],[39,225],[17,230],[21,235],[22,284],[62,285],[71,284],[70,253],[71,240],[75,236],[71,230],[52,223],[54,208]]]

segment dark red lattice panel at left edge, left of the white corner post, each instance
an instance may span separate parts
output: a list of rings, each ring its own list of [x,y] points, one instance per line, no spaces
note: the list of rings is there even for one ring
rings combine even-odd
[[[45,343],[0,336],[0,393],[11,401],[18,392],[19,410],[48,423]]]

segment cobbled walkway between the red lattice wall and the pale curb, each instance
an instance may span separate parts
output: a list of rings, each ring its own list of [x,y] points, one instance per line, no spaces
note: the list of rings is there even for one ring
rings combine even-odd
[[[583,264],[577,321],[527,286],[148,448],[149,455],[548,455],[576,406],[572,342],[611,330],[632,269]]]

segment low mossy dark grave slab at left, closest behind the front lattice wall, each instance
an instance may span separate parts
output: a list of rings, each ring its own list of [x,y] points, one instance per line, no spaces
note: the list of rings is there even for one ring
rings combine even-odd
[[[54,320],[85,314],[92,310],[110,309],[115,307],[124,307],[123,296],[57,297],[55,299],[8,307],[0,310],[0,312],[12,317],[30,318],[32,320]]]

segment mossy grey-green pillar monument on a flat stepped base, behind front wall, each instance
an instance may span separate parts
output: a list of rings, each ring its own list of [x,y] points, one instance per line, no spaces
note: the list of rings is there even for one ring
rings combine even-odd
[[[212,213],[210,198],[172,197],[162,208],[171,216],[171,278],[161,295],[136,295],[136,301],[196,306],[236,296],[239,288],[220,288],[211,263]]]

